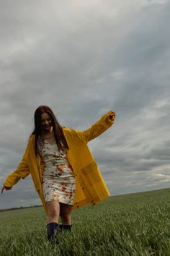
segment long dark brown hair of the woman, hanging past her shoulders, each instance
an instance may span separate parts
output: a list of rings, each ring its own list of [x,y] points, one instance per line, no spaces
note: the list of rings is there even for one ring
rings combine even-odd
[[[39,143],[39,140],[43,140],[42,124],[41,124],[41,115],[43,113],[48,114],[52,120],[53,133],[54,133],[55,141],[58,145],[58,150],[60,150],[60,149],[68,150],[68,144],[67,144],[66,138],[63,134],[63,129],[62,129],[61,125],[58,123],[58,121],[55,117],[55,114],[53,114],[53,111],[48,106],[42,105],[42,106],[39,106],[35,110],[35,116],[34,116],[35,128],[34,128],[34,131],[32,132],[32,135],[35,135],[35,155],[36,156],[37,156],[37,154],[40,155],[38,143]]]

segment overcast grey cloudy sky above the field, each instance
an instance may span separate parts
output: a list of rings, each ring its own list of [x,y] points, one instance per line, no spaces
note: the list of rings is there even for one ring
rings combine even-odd
[[[40,105],[79,130],[116,112],[89,142],[111,195],[170,187],[169,12],[168,0],[1,0],[1,187]],[[0,197],[37,204],[30,176]]]

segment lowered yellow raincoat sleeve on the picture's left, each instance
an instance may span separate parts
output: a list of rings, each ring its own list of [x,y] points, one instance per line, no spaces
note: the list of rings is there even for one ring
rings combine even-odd
[[[14,184],[17,184],[17,182],[19,182],[19,179],[24,179],[30,174],[30,169],[27,163],[29,151],[28,148],[29,147],[27,145],[21,163],[19,163],[19,166],[14,172],[12,172],[12,174],[9,174],[9,176],[7,176],[6,181],[3,184],[4,186],[12,187],[14,186]]]

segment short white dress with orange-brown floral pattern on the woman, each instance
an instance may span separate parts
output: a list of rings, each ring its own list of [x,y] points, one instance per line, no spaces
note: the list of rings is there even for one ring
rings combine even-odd
[[[42,173],[42,191],[45,202],[57,200],[67,205],[73,205],[75,176],[65,151],[58,151],[56,142],[51,145],[45,140],[41,155],[45,163]]]

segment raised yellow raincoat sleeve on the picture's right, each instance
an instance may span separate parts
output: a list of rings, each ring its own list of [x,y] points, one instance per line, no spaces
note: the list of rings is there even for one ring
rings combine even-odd
[[[79,132],[79,136],[82,140],[89,142],[93,140],[95,137],[101,135],[104,131],[106,131],[115,121],[115,116],[110,117],[111,114],[115,113],[114,111],[109,111],[107,114],[102,116],[99,121],[93,124],[89,129],[84,130],[83,132]]]

